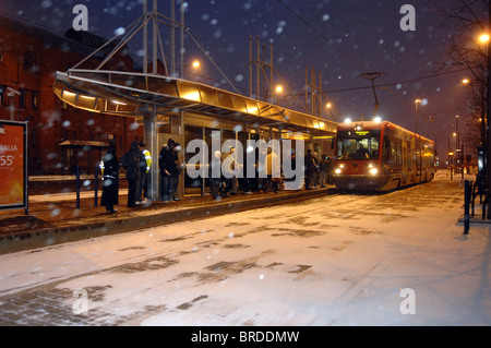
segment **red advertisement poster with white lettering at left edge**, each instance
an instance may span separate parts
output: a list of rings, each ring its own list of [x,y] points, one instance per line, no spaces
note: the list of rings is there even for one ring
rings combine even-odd
[[[0,209],[27,205],[26,123],[0,120]]]

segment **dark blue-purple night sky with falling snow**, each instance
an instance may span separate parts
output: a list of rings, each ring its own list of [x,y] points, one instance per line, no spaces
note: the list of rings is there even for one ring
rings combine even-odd
[[[148,2],[151,7],[152,0]],[[170,15],[169,2],[158,2],[160,13]],[[0,0],[0,11],[63,34],[72,26],[72,9],[79,3],[88,8],[89,32],[107,38],[113,36],[115,29],[131,24],[143,9],[142,0]],[[415,32],[399,27],[404,16],[399,10],[406,3],[416,9]],[[370,82],[360,76],[367,72],[384,73],[376,79],[378,85],[385,85],[378,88],[378,113],[383,119],[414,130],[414,100],[423,100],[418,107],[419,133],[435,140],[441,154],[446,152],[448,135],[455,129],[455,116],[469,113],[460,84],[468,74],[455,72],[462,70],[458,67],[441,70],[447,60],[447,37],[455,33],[441,25],[432,1],[190,0],[187,4],[185,26],[243,95],[249,94],[252,35],[254,58],[256,36],[267,46],[267,61],[268,45],[273,43],[275,69],[295,93],[303,88],[306,67],[322,72],[323,91],[337,121],[345,117],[360,119],[362,115],[371,118],[373,92]],[[167,40],[167,28],[163,27],[161,33]],[[140,48],[139,35],[130,46],[134,59],[141,60]],[[201,82],[232,91],[187,38],[185,64],[195,58],[203,63]],[[428,77],[434,74],[439,75]],[[463,123],[462,119],[460,131]]]

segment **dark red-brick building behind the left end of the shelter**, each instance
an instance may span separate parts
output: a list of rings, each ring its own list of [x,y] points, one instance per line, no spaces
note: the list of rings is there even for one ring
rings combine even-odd
[[[29,176],[70,173],[73,164],[82,173],[94,173],[110,142],[120,157],[131,142],[143,141],[143,127],[133,119],[73,108],[52,91],[55,73],[74,67],[100,41],[86,32],[60,35],[0,16],[0,123],[27,122]],[[85,67],[101,59],[104,52]],[[109,64],[107,69],[133,71],[128,50]],[[60,146],[63,142],[69,145]]]

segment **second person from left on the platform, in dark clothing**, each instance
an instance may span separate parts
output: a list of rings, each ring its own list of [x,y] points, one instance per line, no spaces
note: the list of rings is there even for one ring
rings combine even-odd
[[[131,143],[130,151],[121,157],[121,167],[127,171],[128,179],[128,207],[136,207],[140,179],[142,175],[142,152],[139,149],[140,142]]]

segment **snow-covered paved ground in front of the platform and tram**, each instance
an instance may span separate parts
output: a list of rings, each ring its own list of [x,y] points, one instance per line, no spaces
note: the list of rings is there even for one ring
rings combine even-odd
[[[1,255],[0,312],[48,287],[86,289],[92,325],[489,325],[489,227],[463,236],[462,204],[441,175]]]

